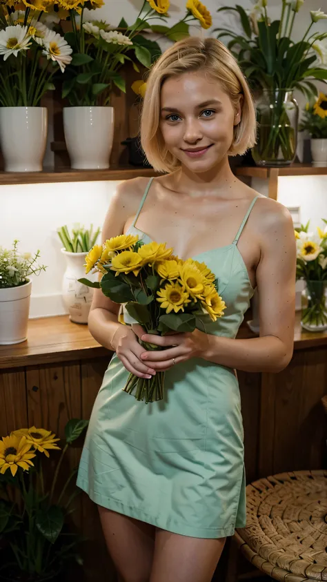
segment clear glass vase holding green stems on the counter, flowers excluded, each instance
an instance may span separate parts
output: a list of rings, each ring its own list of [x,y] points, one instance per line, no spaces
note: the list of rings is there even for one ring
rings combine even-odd
[[[306,281],[301,295],[301,326],[307,331],[327,329],[327,281]]]

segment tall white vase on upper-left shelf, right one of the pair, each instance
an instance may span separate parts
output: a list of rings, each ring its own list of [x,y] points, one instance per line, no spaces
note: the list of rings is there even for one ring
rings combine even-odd
[[[113,107],[63,108],[63,129],[72,168],[109,168],[114,119]]]

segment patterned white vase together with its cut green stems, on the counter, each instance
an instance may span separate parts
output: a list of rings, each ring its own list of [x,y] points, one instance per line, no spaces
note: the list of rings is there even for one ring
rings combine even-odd
[[[79,283],[79,279],[85,272],[85,258],[88,251],[97,242],[100,229],[93,230],[93,225],[86,229],[80,224],[75,224],[71,232],[67,226],[61,226],[57,230],[63,247],[61,253],[66,258],[66,271],[63,273],[62,295],[63,304],[70,314],[70,321],[75,323],[87,323],[88,314],[93,296],[93,289]],[[91,275],[96,280],[97,275]]]

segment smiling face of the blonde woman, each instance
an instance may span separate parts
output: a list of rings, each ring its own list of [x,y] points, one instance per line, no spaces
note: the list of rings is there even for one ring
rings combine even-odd
[[[217,79],[201,72],[170,77],[161,89],[160,129],[170,153],[193,172],[206,172],[226,157],[241,108]]]

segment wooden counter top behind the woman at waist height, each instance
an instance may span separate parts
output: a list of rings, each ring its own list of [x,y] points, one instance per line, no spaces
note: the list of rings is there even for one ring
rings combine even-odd
[[[237,336],[241,339],[255,335],[243,322]],[[308,349],[326,345],[327,332],[301,331],[297,313],[294,349]],[[110,352],[101,347],[90,335],[87,325],[70,322],[68,316],[32,319],[28,324],[28,340],[21,344],[0,346],[0,369],[68,362],[106,356]]]

